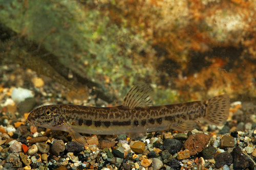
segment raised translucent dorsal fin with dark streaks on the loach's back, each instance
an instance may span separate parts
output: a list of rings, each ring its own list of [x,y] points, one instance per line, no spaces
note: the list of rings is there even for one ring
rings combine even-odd
[[[147,84],[137,84],[126,94],[122,106],[135,108],[151,106],[153,91]]]

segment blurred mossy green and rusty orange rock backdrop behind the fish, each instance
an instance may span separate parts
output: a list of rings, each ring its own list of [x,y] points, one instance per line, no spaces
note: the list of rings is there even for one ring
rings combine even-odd
[[[115,105],[148,83],[156,105],[256,99],[254,0],[0,0],[0,43],[2,67],[49,77],[69,98],[93,89]]]

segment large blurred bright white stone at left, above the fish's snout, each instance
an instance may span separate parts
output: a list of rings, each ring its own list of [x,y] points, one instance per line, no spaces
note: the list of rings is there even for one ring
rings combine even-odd
[[[20,103],[25,101],[27,98],[33,98],[35,93],[31,90],[25,89],[25,88],[16,88],[14,87],[12,90],[11,98],[14,102]]]

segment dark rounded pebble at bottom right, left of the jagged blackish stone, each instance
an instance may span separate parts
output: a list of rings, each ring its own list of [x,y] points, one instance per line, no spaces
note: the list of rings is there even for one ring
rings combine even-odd
[[[226,164],[231,164],[233,163],[233,158],[232,155],[227,153],[227,152],[223,152],[220,153],[219,155],[217,155],[214,160],[216,161],[215,163],[215,167],[217,169],[221,168],[222,166],[226,165]]]

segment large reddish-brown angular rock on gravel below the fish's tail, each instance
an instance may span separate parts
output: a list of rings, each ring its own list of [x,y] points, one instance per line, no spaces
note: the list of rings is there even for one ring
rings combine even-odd
[[[206,147],[211,134],[206,135],[204,133],[197,133],[190,135],[184,143],[184,148],[189,150],[190,155],[195,155],[198,152],[203,151]]]

